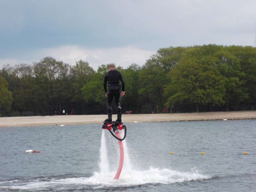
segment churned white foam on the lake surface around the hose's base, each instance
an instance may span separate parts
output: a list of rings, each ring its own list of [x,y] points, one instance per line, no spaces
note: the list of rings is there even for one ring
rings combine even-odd
[[[172,184],[194,180],[210,179],[210,176],[202,175],[196,170],[190,172],[179,172],[171,169],[149,168],[145,171],[122,170],[118,180],[113,180],[116,172],[99,173],[94,172],[92,177],[65,178],[50,181],[33,181],[24,185],[13,185],[9,189],[15,190],[47,190],[49,188],[63,188],[67,190],[71,186],[93,186],[93,188],[125,187],[143,184]]]

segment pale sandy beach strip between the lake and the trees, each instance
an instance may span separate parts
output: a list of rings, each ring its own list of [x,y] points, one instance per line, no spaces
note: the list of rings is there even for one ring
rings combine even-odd
[[[102,123],[107,115],[63,115],[63,116],[22,116],[0,117],[0,127],[29,125],[60,125]],[[123,115],[124,123],[149,121],[199,121],[254,119],[256,111],[199,112],[199,113],[165,113],[165,114],[129,114]],[[116,115],[113,115],[113,120]]]

